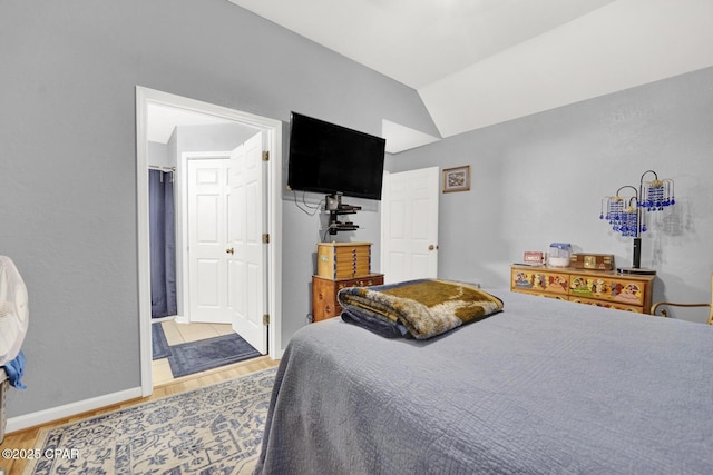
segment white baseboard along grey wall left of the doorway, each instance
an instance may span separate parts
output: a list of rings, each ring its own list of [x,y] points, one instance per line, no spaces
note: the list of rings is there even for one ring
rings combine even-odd
[[[141,397],[140,387],[92,397],[91,399],[79,400],[64,406],[51,407],[49,409],[38,410],[37,413],[30,413],[23,416],[10,417],[6,424],[6,434],[64,419],[77,414],[111,406],[114,404],[124,403],[137,397]]]

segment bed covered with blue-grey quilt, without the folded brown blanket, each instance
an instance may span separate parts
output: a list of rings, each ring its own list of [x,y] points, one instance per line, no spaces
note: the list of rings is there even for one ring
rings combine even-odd
[[[255,473],[713,473],[713,326],[491,294],[424,340],[297,331]]]

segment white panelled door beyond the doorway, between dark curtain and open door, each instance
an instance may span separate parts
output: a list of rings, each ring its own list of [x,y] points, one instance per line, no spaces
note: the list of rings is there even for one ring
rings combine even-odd
[[[189,319],[231,323],[227,299],[227,159],[188,160]]]

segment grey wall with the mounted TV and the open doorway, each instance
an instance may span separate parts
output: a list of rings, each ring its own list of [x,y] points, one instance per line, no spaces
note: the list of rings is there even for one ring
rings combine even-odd
[[[285,123],[297,110],[436,133],[412,89],[224,0],[4,1],[0,63],[0,253],[30,294],[28,389],[10,392],[11,418],[140,385],[137,85]],[[318,231],[283,208],[286,343],[309,311]]]

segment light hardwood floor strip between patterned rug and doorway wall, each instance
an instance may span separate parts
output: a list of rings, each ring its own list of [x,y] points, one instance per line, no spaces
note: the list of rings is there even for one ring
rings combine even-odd
[[[184,376],[180,378],[173,379],[165,384],[159,384],[154,387],[154,394],[149,397],[137,398],[133,400],[128,400],[121,404],[115,404],[108,407],[104,407],[101,409],[87,412],[84,414],[78,414],[72,417],[68,417],[60,420],[55,420],[49,424],[45,424],[42,426],[31,427],[23,431],[18,431],[11,434],[6,434],[2,444],[0,444],[0,449],[30,449],[35,448],[35,444],[37,442],[40,429],[47,427],[55,427],[58,425],[72,423],[77,420],[81,420],[87,417],[92,417],[99,414],[108,413],[116,409],[121,409],[125,407],[130,407],[137,404],[147,403],[149,400],[159,399],[165,396],[170,396],[173,394],[184,393],[186,390],[196,389],[204,386],[209,386],[213,384],[217,384],[224,380],[233,379],[238,376],[244,376],[250,373],[255,373],[261,369],[267,369],[273,366],[277,366],[280,364],[279,360],[272,359],[270,356],[261,356],[258,358],[248,359],[245,362],[236,363],[234,365],[224,366],[222,368],[212,369],[208,372],[199,373],[197,375]],[[71,448],[71,447],[65,447]],[[0,468],[4,469],[6,475],[20,475],[22,469],[25,469],[26,465],[25,459],[8,459],[7,457],[0,458]],[[0,472],[1,474],[1,472]]]

